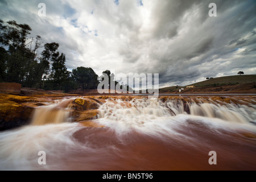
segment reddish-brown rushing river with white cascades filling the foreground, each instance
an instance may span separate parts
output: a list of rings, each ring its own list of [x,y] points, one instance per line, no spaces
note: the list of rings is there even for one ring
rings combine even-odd
[[[85,127],[70,122],[72,100],[40,106],[30,126],[1,132],[0,169],[256,169],[255,101],[107,100],[93,120],[105,127]]]

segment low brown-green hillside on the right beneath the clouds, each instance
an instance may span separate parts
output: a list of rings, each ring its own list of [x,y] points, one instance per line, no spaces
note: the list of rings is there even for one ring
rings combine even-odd
[[[256,93],[256,75],[217,77],[191,85],[195,88],[170,86],[159,89],[159,92],[179,93],[179,89],[184,88],[183,93]]]

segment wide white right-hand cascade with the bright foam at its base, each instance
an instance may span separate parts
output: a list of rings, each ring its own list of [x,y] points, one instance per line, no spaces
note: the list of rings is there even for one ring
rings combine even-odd
[[[166,103],[157,100],[136,99],[129,102],[107,101],[101,105],[97,122],[115,130],[118,135],[137,131],[148,135],[177,134],[174,127],[184,124],[188,119],[208,123],[209,127],[237,126],[236,123],[254,127],[249,121],[256,118],[255,109],[240,105],[188,104],[191,114],[184,111],[183,103],[170,100]],[[227,123],[229,124],[227,125]]]

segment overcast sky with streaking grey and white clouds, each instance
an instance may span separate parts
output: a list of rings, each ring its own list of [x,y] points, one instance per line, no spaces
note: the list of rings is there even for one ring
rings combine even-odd
[[[0,0],[0,19],[59,43],[70,71],[159,73],[160,87],[256,74],[255,0]]]

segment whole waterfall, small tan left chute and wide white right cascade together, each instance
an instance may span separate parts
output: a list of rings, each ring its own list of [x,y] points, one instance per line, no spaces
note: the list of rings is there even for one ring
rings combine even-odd
[[[70,119],[68,105],[74,98],[55,100],[53,104],[36,107],[31,125],[44,125],[47,123],[63,123]],[[166,101],[155,98],[134,98],[131,101],[106,100],[98,109],[98,117],[110,121],[136,121],[144,122],[151,119],[167,118],[179,114],[196,115],[207,118],[219,118],[224,121],[236,123],[250,123],[256,121],[256,108],[250,102],[240,104],[227,104],[220,101],[196,98],[183,101],[181,99],[168,99]]]

